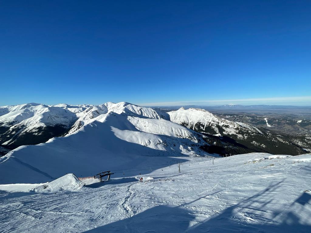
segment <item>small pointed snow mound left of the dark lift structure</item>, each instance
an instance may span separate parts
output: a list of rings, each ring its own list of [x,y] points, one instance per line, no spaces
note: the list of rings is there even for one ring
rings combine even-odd
[[[35,192],[43,192],[43,191],[51,192],[51,191],[61,191],[61,190],[76,191],[80,189],[83,185],[85,185],[85,183],[80,181],[77,178],[77,176],[75,176],[73,173],[69,173],[47,184],[40,185],[32,189],[32,191],[35,191]]]

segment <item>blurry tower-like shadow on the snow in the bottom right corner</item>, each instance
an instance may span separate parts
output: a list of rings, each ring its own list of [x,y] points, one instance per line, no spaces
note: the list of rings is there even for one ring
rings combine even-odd
[[[285,206],[280,212],[274,213],[273,219],[275,222],[279,222],[279,224],[272,222],[271,219],[266,218],[264,214],[258,213],[264,212],[264,207],[272,202],[272,196],[275,195],[274,192],[282,182],[283,181],[270,185],[265,190],[252,197],[226,208],[221,214],[190,227],[187,229],[187,232],[311,232],[311,225],[301,224],[299,222],[299,216],[297,216],[294,211],[290,210],[290,206],[295,203],[308,203],[310,200],[309,196],[311,196],[309,194],[302,194],[291,205]],[[241,210],[243,209],[246,211],[242,212]],[[247,215],[243,216],[245,213]],[[309,213],[309,215],[309,217],[311,217],[311,213]],[[277,216],[281,217],[276,219]],[[265,222],[265,224],[258,223],[258,220],[260,220],[260,222]]]

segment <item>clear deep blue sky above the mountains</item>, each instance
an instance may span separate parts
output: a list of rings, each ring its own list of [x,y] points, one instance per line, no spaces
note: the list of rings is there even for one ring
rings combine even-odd
[[[311,1],[2,1],[0,105],[311,105]]]

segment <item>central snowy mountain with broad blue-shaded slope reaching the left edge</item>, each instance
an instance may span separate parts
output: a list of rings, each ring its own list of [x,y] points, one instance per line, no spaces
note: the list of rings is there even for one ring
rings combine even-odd
[[[0,184],[44,183],[66,173],[94,176],[101,170],[166,165],[171,160],[152,157],[206,155],[199,148],[202,135],[161,119],[151,108],[106,103],[81,113],[83,126],[65,137],[21,146],[0,158]]]

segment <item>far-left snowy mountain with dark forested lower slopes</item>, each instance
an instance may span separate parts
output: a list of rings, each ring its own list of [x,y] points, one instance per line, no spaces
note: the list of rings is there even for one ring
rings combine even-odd
[[[67,109],[38,103],[1,107],[0,113],[0,145],[11,149],[45,142],[77,120]]]

